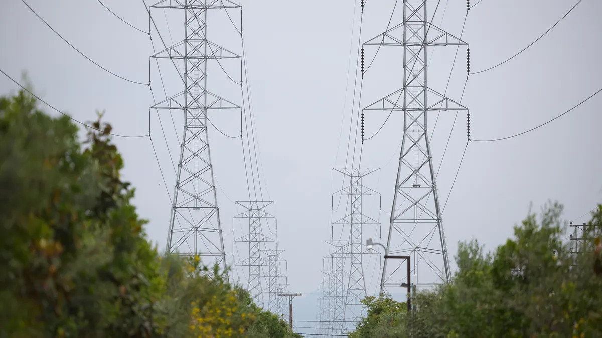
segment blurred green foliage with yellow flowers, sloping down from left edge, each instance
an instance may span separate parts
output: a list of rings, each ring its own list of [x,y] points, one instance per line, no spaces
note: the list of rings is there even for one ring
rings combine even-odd
[[[0,337],[295,337],[224,271],[157,253],[93,127],[81,143],[25,92],[0,97]]]

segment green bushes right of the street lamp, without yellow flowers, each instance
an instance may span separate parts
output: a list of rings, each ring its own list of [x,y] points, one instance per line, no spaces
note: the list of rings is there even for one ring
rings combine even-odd
[[[411,316],[364,319],[351,337],[602,337],[602,244],[586,233],[588,253],[572,254],[561,214],[559,204],[530,214],[493,253],[461,243],[452,283],[417,293]],[[590,224],[600,232],[602,206]]]

